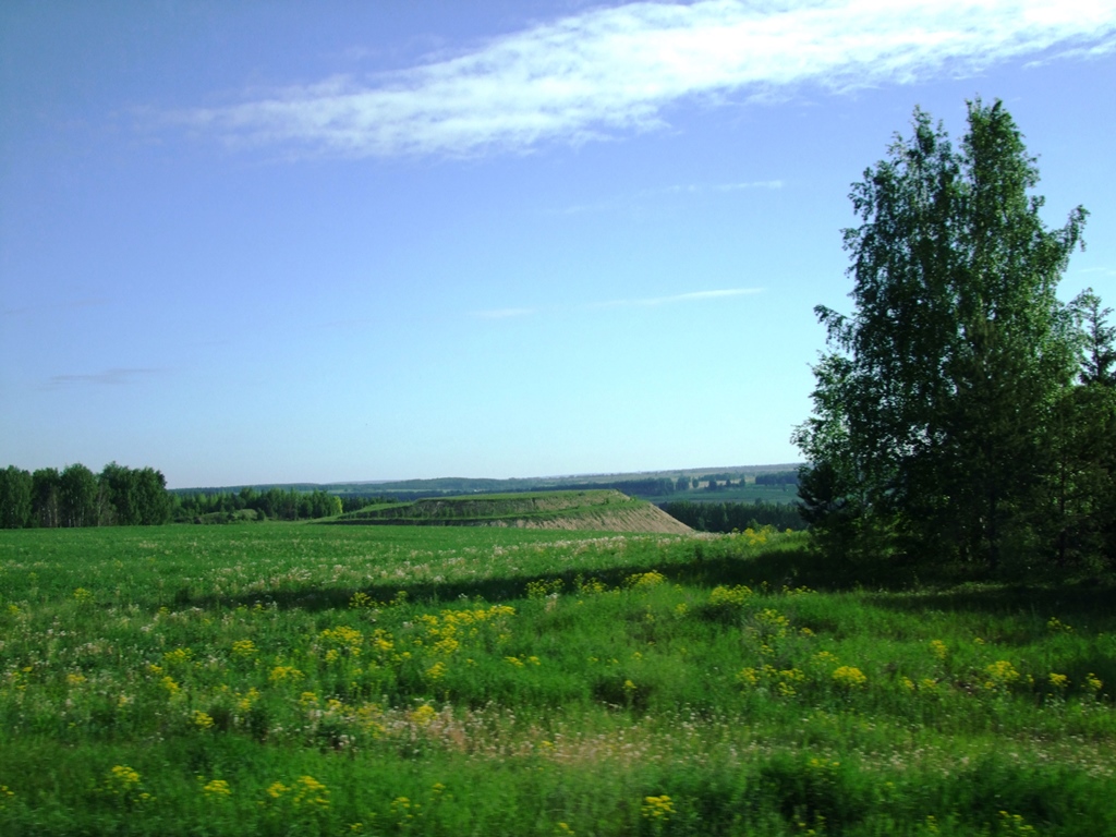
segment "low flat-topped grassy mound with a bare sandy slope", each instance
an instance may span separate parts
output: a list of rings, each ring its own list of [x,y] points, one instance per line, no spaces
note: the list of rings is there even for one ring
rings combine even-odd
[[[618,532],[677,532],[690,527],[619,491],[542,491],[440,497],[383,503],[343,514],[338,523],[367,526],[493,526]]]

